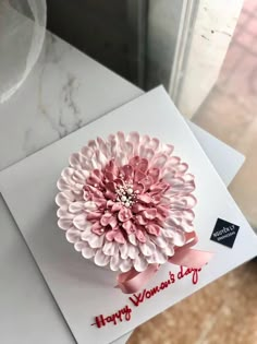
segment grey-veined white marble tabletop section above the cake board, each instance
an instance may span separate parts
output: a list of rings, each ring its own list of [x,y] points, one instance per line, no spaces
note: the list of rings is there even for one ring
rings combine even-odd
[[[110,87],[113,82],[118,88]],[[0,106],[0,170],[140,94],[136,86],[48,34],[36,68]]]

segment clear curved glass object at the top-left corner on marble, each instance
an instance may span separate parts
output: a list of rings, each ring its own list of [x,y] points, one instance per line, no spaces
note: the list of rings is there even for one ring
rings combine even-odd
[[[0,0],[0,104],[23,84],[41,51],[46,0]]]

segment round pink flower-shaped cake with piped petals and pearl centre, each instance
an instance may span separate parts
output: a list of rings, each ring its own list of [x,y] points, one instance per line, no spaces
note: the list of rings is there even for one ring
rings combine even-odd
[[[187,164],[156,138],[123,132],[91,140],[58,181],[58,225],[86,259],[113,271],[163,264],[193,232]]]

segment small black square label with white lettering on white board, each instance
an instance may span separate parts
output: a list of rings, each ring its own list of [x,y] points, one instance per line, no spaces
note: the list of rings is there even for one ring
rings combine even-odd
[[[238,226],[222,218],[218,218],[210,240],[232,248],[238,230]]]

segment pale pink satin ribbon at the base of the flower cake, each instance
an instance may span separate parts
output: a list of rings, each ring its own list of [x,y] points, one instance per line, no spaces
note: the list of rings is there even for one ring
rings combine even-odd
[[[195,232],[186,234],[186,244],[182,247],[175,247],[175,254],[169,258],[168,262],[193,269],[199,269],[207,264],[212,252],[192,249],[198,241]],[[160,264],[149,264],[143,272],[136,271],[134,268],[127,272],[118,275],[118,285],[124,294],[133,294],[142,289],[142,287],[150,281],[150,278],[159,270]]]

